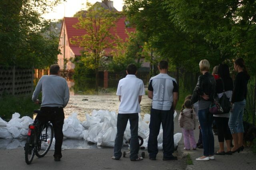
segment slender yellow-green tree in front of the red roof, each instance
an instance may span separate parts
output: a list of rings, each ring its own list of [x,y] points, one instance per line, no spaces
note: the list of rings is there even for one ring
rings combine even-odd
[[[119,39],[114,33],[116,21],[121,14],[106,10],[98,3],[92,5],[87,2],[86,6],[88,7],[86,14],[82,15],[81,12],[79,22],[74,25],[76,29],[85,30],[86,34],[73,37],[71,42],[84,48],[80,62],[94,70],[97,88],[98,72],[106,59],[104,50],[112,49]]]

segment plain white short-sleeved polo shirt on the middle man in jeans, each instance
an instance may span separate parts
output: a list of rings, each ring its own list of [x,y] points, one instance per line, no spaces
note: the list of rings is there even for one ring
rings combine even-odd
[[[116,95],[121,96],[118,113],[140,113],[138,96],[145,94],[143,81],[133,74],[119,80]]]

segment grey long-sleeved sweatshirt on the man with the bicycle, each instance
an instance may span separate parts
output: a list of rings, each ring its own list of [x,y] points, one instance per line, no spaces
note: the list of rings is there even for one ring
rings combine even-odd
[[[32,96],[34,102],[40,92],[42,92],[41,107],[66,107],[68,104],[68,83],[60,76],[42,76]]]

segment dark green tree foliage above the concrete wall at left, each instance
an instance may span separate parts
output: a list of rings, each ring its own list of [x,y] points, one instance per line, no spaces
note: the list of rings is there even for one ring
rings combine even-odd
[[[0,3],[0,61],[4,66],[44,68],[57,61],[58,40],[46,37],[44,11],[62,0],[2,0]]]

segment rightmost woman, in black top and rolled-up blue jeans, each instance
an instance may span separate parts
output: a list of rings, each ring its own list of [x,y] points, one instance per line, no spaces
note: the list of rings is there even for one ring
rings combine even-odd
[[[247,95],[247,84],[250,76],[246,70],[246,66],[244,65],[244,60],[242,58],[238,58],[234,61],[234,69],[236,72],[238,72],[238,74],[236,75],[234,82],[234,91],[231,100],[232,109],[228,126],[234,140],[234,147],[231,149],[231,151],[232,153],[239,153],[240,150],[244,149],[243,113],[246,105],[245,100]]]

